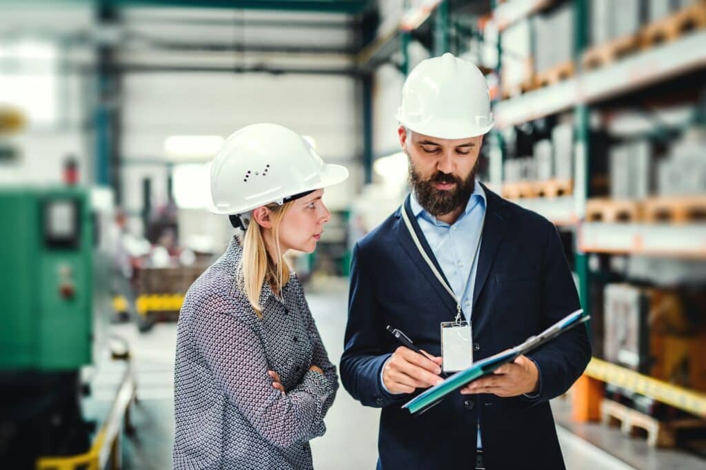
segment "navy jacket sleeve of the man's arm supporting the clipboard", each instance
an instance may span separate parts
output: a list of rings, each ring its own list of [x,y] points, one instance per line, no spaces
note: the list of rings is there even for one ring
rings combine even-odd
[[[542,263],[542,327],[549,327],[580,308],[573,277],[566,263],[556,228],[548,225]],[[573,385],[591,359],[591,344],[585,326],[575,327],[527,355],[539,369],[540,390],[531,402],[558,397]]]

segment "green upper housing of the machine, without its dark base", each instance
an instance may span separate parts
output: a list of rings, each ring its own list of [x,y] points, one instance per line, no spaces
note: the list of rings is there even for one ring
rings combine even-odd
[[[93,224],[77,188],[0,190],[0,370],[76,370],[91,361]]]

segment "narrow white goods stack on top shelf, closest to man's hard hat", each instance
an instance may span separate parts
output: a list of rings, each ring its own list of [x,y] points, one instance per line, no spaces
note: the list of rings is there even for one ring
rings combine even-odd
[[[503,97],[519,95],[532,88],[532,29],[530,20],[520,20],[503,30]]]

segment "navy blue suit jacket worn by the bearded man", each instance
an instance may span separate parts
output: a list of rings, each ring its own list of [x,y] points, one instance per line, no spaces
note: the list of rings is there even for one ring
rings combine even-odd
[[[487,212],[473,296],[474,360],[513,347],[580,308],[554,225],[484,189]],[[440,356],[439,323],[453,320],[455,311],[453,299],[414,246],[400,210],[357,243],[340,373],[352,397],[383,409],[378,469],[473,468],[477,420],[489,469],[563,469],[549,399],[566,392],[590,360],[583,327],[529,355],[540,373],[535,399],[454,392],[413,416],[400,408],[412,394],[383,390],[381,368],[400,346],[385,327],[400,328],[419,347]]]

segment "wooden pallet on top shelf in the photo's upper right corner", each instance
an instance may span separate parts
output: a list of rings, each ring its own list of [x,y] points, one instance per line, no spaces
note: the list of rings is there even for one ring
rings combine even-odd
[[[706,28],[706,2],[699,1],[645,26],[640,31],[643,48],[671,42],[693,30]]]

